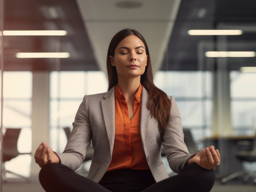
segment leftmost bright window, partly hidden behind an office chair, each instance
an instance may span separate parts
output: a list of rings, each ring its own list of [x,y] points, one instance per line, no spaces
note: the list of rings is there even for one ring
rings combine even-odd
[[[4,72],[3,74],[3,130],[22,128],[18,151],[29,153],[32,148],[31,132],[32,73]],[[20,155],[5,163],[5,168],[29,177],[31,155]]]

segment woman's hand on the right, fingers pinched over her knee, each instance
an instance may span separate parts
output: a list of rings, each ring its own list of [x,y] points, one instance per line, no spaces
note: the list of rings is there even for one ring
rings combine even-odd
[[[204,169],[213,169],[220,164],[220,152],[214,149],[214,146],[202,149],[192,158],[188,159],[187,164],[196,163]]]

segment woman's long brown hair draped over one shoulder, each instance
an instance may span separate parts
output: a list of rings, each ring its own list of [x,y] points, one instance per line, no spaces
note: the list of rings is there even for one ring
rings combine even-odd
[[[151,117],[155,116],[159,129],[163,130],[170,117],[170,109],[171,109],[171,101],[168,99],[168,96],[165,92],[158,89],[153,82],[153,71],[152,64],[150,60],[150,55],[148,51],[148,45],[144,39],[144,37],[134,29],[123,29],[119,31],[111,40],[108,46],[108,55],[107,55],[107,69],[108,69],[108,91],[117,84],[117,72],[116,67],[110,64],[109,56],[115,56],[116,46],[122,41],[125,37],[135,35],[140,38],[140,40],[144,43],[146,54],[148,55],[148,64],[146,66],[145,72],[140,77],[140,83],[142,86],[146,88],[149,92],[149,101],[147,108],[150,110]]]

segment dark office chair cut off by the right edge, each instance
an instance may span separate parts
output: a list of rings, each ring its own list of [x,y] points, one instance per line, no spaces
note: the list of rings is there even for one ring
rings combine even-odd
[[[250,151],[237,151],[236,158],[239,159],[241,162],[256,162],[256,136],[252,141],[252,150]],[[256,171],[246,171],[241,170],[239,172],[235,172],[231,175],[228,175],[221,179],[221,183],[226,183],[229,180],[237,178],[239,176],[243,176],[243,182],[247,183],[250,178],[253,179],[253,183],[256,184]]]

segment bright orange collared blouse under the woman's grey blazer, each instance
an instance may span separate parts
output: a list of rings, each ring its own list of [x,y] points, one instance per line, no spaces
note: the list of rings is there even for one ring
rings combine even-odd
[[[108,171],[116,169],[149,169],[140,137],[140,112],[141,112],[140,84],[135,94],[134,116],[129,119],[128,106],[124,95],[115,87],[115,141],[112,160]]]

